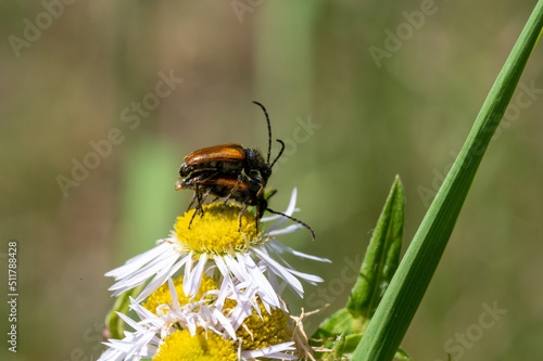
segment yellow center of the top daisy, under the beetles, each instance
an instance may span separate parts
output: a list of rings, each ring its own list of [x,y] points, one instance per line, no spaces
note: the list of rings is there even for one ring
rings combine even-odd
[[[223,203],[213,203],[203,206],[203,217],[195,215],[193,219],[195,209],[188,210],[177,218],[177,240],[182,247],[198,254],[225,255],[247,250],[249,245],[262,242],[262,238],[256,229],[255,216],[249,211],[241,216],[241,229],[239,228],[241,209],[232,204],[223,209]]]

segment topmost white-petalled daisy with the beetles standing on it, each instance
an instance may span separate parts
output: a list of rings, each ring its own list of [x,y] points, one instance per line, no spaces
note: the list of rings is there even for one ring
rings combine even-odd
[[[296,189],[292,191],[285,215],[292,216],[295,210],[295,199]],[[255,225],[254,216],[244,212],[240,230],[240,209],[239,206],[227,205],[223,210],[222,203],[206,205],[204,216],[195,217],[190,229],[188,225],[195,210],[187,211],[177,219],[176,230],[171,237],[159,241],[151,250],[105,273],[116,281],[110,287],[110,291],[114,291],[113,296],[118,296],[152,278],[136,299],[140,302],[182,267],[185,294],[195,295],[203,274],[216,267],[225,279],[236,284],[238,289],[247,289],[253,285],[256,295],[269,312],[275,308],[285,310],[278,296],[285,286],[290,286],[303,297],[304,291],[300,280],[311,284],[323,282],[323,279],[316,275],[296,271],[282,259],[281,254],[290,253],[323,262],[329,262],[328,259],[295,252],[274,238],[276,235],[300,229],[300,224],[280,228],[288,220],[286,217],[267,217],[262,221],[279,220],[266,232],[261,233]]]

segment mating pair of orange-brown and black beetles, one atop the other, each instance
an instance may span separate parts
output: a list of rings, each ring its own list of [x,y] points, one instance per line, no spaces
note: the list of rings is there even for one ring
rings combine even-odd
[[[258,102],[253,102],[258,105],[266,116],[268,126],[268,153],[265,160],[261,152],[255,149],[244,149],[241,144],[224,144],[205,147],[194,151],[185,157],[185,163],[179,168],[179,180],[175,184],[177,191],[189,189],[194,191],[192,201],[189,205],[190,209],[194,202],[197,203],[195,211],[192,218],[200,212],[203,216],[202,204],[206,197],[212,194],[216,198],[225,198],[224,206],[230,199],[235,199],[243,205],[239,216],[239,224],[241,229],[241,217],[249,206],[256,207],[256,225],[258,219],[262,218],[264,211],[281,215],[294,222],[305,227],[315,238],[315,232],[306,223],[299,219],[287,216],[285,214],[269,209],[267,206],[268,197],[264,196],[264,189],[267,180],[272,176],[272,168],[277,163],[282,152],[285,143],[277,139],[281,144],[281,150],[274,162],[269,162],[272,154],[272,125],[269,116],[264,105]],[[192,220],[189,223],[192,223]]]

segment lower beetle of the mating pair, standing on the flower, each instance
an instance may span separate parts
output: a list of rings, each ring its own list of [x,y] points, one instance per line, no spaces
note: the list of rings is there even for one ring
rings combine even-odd
[[[217,176],[213,178],[209,178],[205,180],[200,180],[200,181],[194,181],[192,178],[185,179],[179,183],[179,189],[191,189],[195,190],[197,188],[202,188],[205,190],[205,193],[203,195],[203,199],[207,197],[207,195],[214,194],[217,197],[225,197],[225,198],[232,198],[235,201],[238,201],[239,203],[243,204],[243,208],[241,209],[239,214],[239,229],[241,230],[241,218],[243,214],[245,212],[247,208],[249,206],[255,206],[256,207],[256,217],[255,217],[255,222],[256,222],[256,229],[258,229],[258,219],[262,218],[264,215],[264,211],[269,211],[275,215],[280,215],[282,217],[287,217],[288,219],[305,227],[312,235],[312,238],[315,241],[315,232],[313,229],[305,222],[299,220],[298,218],[287,216],[282,212],[275,211],[268,207],[268,198],[273,196],[276,192],[272,192],[272,194],[268,197],[264,196],[264,189],[261,186],[260,183],[251,180],[251,179],[245,179],[241,183],[238,182],[237,177],[233,176]],[[195,196],[195,195],[194,195]],[[193,199],[194,201],[194,199]],[[227,199],[225,201],[224,205],[226,205]],[[192,219],[194,219],[194,216],[197,215],[197,211],[192,215]],[[190,222],[192,222],[192,219]]]

